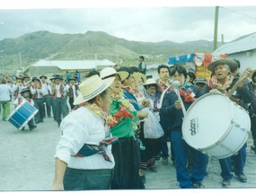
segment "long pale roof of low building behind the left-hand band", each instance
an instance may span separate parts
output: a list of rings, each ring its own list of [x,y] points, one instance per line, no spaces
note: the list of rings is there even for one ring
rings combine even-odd
[[[115,66],[108,59],[103,60],[40,60],[31,66],[57,66],[61,70],[94,69],[97,66]]]

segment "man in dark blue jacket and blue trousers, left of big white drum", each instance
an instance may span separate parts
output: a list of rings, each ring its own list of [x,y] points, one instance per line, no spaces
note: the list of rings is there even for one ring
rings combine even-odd
[[[180,85],[179,87],[177,85],[177,89],[170,87],[170,89],[165,92],[161,113],[163,114],[163,118],[168,120],[168,126],[171,129],[171,141],[176,164],[176,178],[181,189],[201,189],[204,188],[202,181],[204,180],[207,168],[207,155],[191,148],[194,163],[190,176],[190,171],[187,166],[188,148],[190,146],[182,138],[181,126],[185,113],[183,110],[189,109],[192,102],[195,101],[195,98],[202,96],[203,92],[192,83],[185,83],[187,71],[183,66],[175,66],[172,69],[171,75],[173,85],[177,82]]]

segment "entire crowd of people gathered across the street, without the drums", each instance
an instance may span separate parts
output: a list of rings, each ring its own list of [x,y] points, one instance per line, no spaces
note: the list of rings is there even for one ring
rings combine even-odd
[[[39,110],[29,123],[31,130],[46,116],[54,118],[61,129],[50,189],[145,189],[145,171],[157,172],[155,162],[160,159],[163,165],[172,161],[181,189],[205,188],[208,156],[183,139],[183,118],[207,92],[228,96],[234,86],[230,100],[249,113],[251,148],[256,153],[256,70],[249,73],[250,79],[242,77],[240,62],[223,58],[207,66],[212,72],[208,80],[181,65],[158,66],[155,80],[146,78],[143,60],[140,57],[138,67],[92,71],[81,82],[75,75],[68,75],[66,81],[60,75],[31,80],[25,79],[28,75],[17,76],[12,87],[1,80],[4,120],[13,97],[16,106],[22,99]],[[245,149],[246,143],[237,154],[219,159],[224,188],[230,187],[234,175],[247,181]]]

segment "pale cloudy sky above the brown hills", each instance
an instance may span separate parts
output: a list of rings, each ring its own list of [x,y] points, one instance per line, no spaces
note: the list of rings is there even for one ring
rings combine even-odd
[[[243,4],[215,1],[195,4],[196,0],[194,4],[174,5],[170,4],[171,0],[158,0],[158,4],[151,4],[149,0],[129,0],[123,4],[115,0],[94,0],[90,5],[81,4],[82,0],[73,0],[73,4],[70,1],[66,4],[66,0],[60,1],[61,4],[50,4],[57,0],[44,0],[44,4],[33,4],[39,1],[26,4],[26,1],[9,0],[6,3],[0,0],[0,40],[17,38],[32,31],[105,31],[123,39],[151,42],[213,40],[215,5],[220,5],[218,40],[222,34],[225,41],[231,41],[256,32],[256,4],[246,4],[246,0]]]

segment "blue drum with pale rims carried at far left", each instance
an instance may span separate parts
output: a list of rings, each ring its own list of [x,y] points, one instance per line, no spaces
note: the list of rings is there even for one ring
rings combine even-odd
[[[15,108],[7,120],[13,124],[18,130],[22,129],[33,118],[39,110],[31,105],[28,101],[22,103]]]

